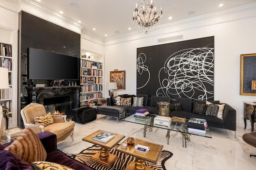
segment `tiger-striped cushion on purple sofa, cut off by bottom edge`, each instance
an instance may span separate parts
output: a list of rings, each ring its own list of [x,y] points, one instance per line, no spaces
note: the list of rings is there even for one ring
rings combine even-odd
[[[73,170],[68,166],[45,161],[32,162],[31,166],[34,170]]]

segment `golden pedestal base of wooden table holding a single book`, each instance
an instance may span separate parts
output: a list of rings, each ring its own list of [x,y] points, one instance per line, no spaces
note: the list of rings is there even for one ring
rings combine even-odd
[[[104,164],[106,166],[111,166],[111,164],[117,159],[117,156],[108,153],[108,149],[102,147],[99,152],[91,157],[91,159],[100,162],[101,164]]]

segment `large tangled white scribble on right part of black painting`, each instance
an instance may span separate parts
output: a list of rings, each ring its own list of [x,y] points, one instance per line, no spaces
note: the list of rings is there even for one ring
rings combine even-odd
[[[213,71],[211,70],[214,66],[213,49],[207,46],[183,49],[168,57],[164,67],[158,73],[161,87],[156,91],[156,96],[178,95],[207,100],[210,97],[208,95],[213,94],[213,91],[207,91],[206,89],[206,84],[213,86],[214,83]],[[168,77],[160,80],[161,72],[167,73]],[[201,91],[202,94],[194,96],[196,91]]]

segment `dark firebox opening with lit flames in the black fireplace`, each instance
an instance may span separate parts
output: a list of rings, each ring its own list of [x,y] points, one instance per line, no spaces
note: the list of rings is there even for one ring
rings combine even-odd
[[[44,107],[47,113],[69,115],[71,113],[72,102],[70,101],[70,96],[44,98]]]

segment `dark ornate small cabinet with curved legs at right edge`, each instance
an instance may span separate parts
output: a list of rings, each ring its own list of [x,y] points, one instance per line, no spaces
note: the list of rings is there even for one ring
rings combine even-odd
[[[255,107],[256,104],[254,102],[244,102],[244,129],[246,128],[246,120],[250,120],[252,125],[252,132],[254,129],[255,122]]]

